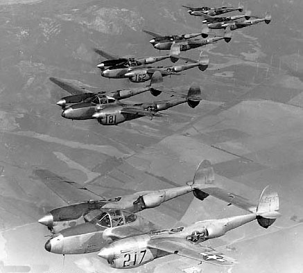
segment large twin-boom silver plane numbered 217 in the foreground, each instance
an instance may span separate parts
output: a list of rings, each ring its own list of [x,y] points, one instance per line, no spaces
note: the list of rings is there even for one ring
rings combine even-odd
[[[114,268],[138,267],[167,254],[214,265],[234,265],[236,261],[233,258],[202,243],[253,220],[267,229],[280,216],[279,197],[269,186],[261,193],[259,202],[254,204],[217,184],[214,168],[208,160],[199,164],[191,185],[144,191],[110,200],[101,197],[101,200],[83,202],[81,199],[96,197],[96,194],[76,182],[64,181],[48,170],[35,170],[34,174],[66,202],[82,201],[53,209],[39,220],[53,232],[45,249],[55,254],[98,252],[98,256],[105,258]],[[62,185],[76,190],[79,195],[69,195],[72,200],[67,199],[66,191],[61,191]],[[69,188],[67,191],[71,192]],[[201,201],[211,195],[250,213],[202,220],[172,229],[155,229],[153,222],[135,214],[190,192]],[[57,227],[58,224],[61,228]],[[64,225],[67,228],[64,229]]]

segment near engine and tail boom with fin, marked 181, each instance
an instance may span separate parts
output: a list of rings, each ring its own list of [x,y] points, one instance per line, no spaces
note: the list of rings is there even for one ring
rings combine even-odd
[[[180,98],[174,100],[160,100],[154,103],[136,103],[134,105],[126,105],[117,103],[116,105],[100,105],[97,107],[94,118],[98,119],[98,123],[102,125],[117,125],[125,121],[130,121],[142,116],[163,116],[159,111],[169,109],[182,103],[187,103],[189,107],[195,108],[201,98],[200,87],[191,85],[187,95],[179,95]]]

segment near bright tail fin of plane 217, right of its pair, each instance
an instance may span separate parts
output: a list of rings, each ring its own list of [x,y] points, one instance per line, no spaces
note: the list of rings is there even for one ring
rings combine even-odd
[[[279,195],[276,191],[272,191],[270,186],[266,186],[257,206],[257,221],[261,227],[267,229],[279,216]]]

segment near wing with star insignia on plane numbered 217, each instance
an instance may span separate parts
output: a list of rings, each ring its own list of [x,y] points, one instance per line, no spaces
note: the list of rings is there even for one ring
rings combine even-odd
[[[190,243],[182,238],[154,237],[148,242],[148,247],[213,265],[231,266],[236,263],[233,258],[225,256],[225,254],[216,251],[216,249]]]

